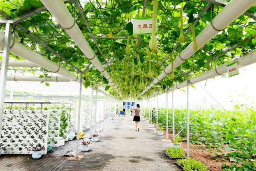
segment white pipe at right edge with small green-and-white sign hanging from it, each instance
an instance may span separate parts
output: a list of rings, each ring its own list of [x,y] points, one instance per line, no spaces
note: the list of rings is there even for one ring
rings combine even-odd
[[[226,64],[223,64],[219,67],[216,67],[215,69],[209,70],[207,72],[205,72],[204,74],[198,75],[194,78],[189,79],[190,84],[195,84],[198,83],[200,81],[204,81],[207,80],[209,78],[218,76],[219,74],[224,74],[227,72],[227,65],[230,63],[233,63],[235,61],[238,61],[238,68],[242,68],[245,67],[247,65],[256,63],[256,50],[254,50],[253,52],[248,53],[247,55],[245,55],[244,57],[235,59],[233,61],[227,62]],[[173,88],[173,90],[177,90],[180,89],[182,87],[186,86],[186,81],[183,81],[180,84],[176,84],[176,86]]]

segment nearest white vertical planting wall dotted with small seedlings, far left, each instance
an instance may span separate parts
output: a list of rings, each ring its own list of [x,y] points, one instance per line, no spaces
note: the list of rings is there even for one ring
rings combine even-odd
[[[40,144],[47,153],[49,110],[6,109],[3,113],[3,154],[31,154]]]

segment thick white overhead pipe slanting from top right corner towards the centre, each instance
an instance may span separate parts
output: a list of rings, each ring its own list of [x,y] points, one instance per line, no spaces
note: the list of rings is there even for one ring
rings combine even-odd
[[[255,0],[232,0],[227,6],[222,9],[222,11],[212,20],[212,22],[196,37],[196,41],[198,43],[198,49],[201,49],[207,42],[212,40],[220,31],[225,29],[230,23],[232,23],[236,18],[238,18],[241,14],[247,11],[253,4]],[[177,68],[190,58],[193,54],[195,54],[195,50],[193,49],[193,42],[189,44],[189,46],[184,49],[177,58],[175,58],[174,68]],[[163,72],[154,79],[154,81],[140,93],[139,96],[142,96],[145,92],[147,92],[151,87],[154,87],[159,81],[163,80],[169,73],[172,72],[172,64],[166,67]]]

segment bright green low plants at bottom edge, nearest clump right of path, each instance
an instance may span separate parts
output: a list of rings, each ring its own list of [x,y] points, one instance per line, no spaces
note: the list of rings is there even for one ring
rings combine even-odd
[[[204,163],[191,158],[179,159],[177,164],[181,165],[184,171],[208,171]]]

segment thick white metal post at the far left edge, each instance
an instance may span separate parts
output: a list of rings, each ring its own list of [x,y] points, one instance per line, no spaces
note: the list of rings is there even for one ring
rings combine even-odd
[[[5,97],[5,90],[6,90],[6,79],[7,79],[7,71],[8,71],[8,63],[9,63],[11,35],[12,35],[12,25],[10,23],[6,23],[4,45],[3,45],[3,59],[2,59],[1,74],[0,74],[0,140],[1,140],[1,133],[2,133],[4,97]]]

